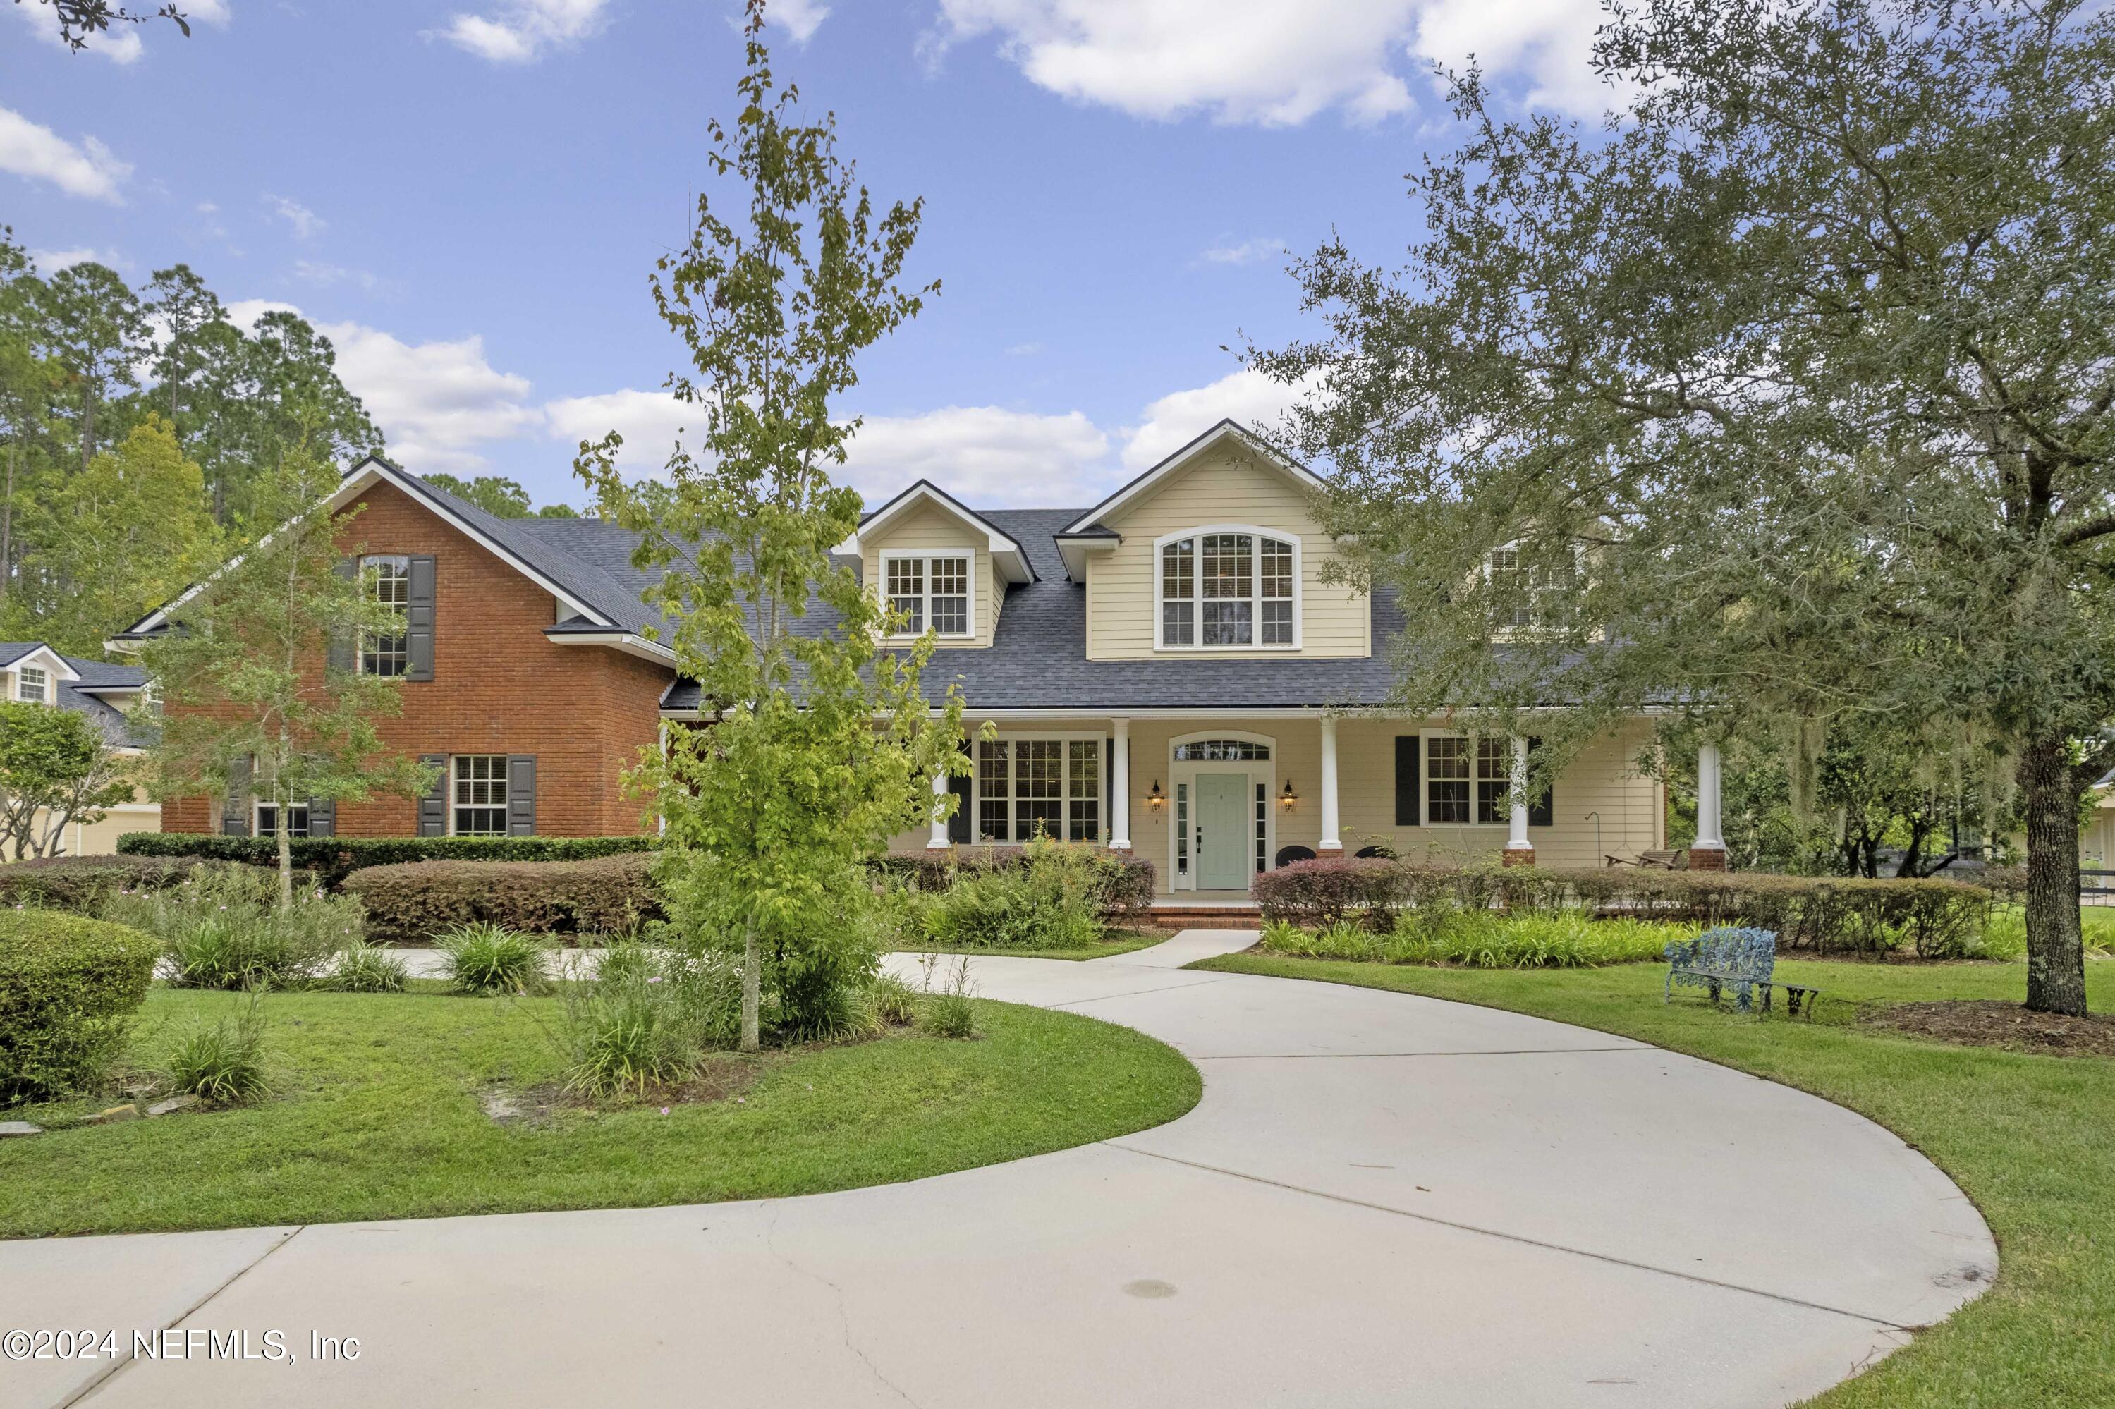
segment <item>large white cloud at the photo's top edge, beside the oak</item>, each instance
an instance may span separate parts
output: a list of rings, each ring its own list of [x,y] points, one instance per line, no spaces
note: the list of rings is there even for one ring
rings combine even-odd
[[[1525,72],[1535,102],[1597,112],[1586,0],[939,0],[922,49],[994,36],[1030,83],[1132,116],[1292,127],[1413,106],[1406,76],[1474,53]]]

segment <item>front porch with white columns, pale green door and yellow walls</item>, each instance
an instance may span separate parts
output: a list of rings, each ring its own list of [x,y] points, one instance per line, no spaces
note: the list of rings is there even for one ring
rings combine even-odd
[[[1605,865],[1667,844],[1660,785],[1635,768],[1643,719],[1580,751],[1538,800],[1531,740],[1442,721],[1318,709],[1129,713],[1098,719],[971,711],[971,776],[935,783],[931,829],[895,848],[1102,842],[1153,861],[1184,925],[1252,922],[1258,872],[1309,857]],[[1715,840],[1715,838],[1713,838]]]

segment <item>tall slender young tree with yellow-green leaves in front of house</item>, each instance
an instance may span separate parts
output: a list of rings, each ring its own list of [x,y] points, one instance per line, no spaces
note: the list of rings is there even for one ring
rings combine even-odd
[[[740,965],[740,1045],[764,1005],[789,1035],[825,1032],[878,963],[857,925],[861,863],[924,821],[933,779],[967,770],[960,700],[928,709],[926,633],[884,654],[880,599],[831,550],[861,499],[831,472],[859,421],[831,419],[859,351],[914,317],[903,260],[920,203],[878,212],[838,157],[835,118],[802,121],[776,89],[751,0],[742,112],[711,125],[713,173],[736,214],[698,199],[689,243],[654,273],[654,303],[692,370],[668,379],[702,436],[660,482],[626,482],[622,438],[582,444],[575,472],[641,533],[660,571],[645,601],[677,671],[698,681],[700,728],[670,730],[635,781],[666,825],[660,874],[685,941]]]

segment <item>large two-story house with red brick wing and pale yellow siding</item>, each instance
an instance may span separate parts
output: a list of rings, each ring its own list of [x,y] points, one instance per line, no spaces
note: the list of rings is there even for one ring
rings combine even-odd
[[[960,685],[973,776],[956,817],[901,848],[1038,831],[1148,857],[1161,889],[1239,897],[1258,870],[1387,846],[1406,857],[1599,865],[1665,844],[1645,719],[1512,808],[1529,740],[1390,711],[1392,594],[1326,582],[1318,480],[1231,421],[1093,508],[971,510],[918,482],[842,546],[863,582],[933,626],[928,696]],[[434,760],[429,798],[302,810],[296,831],[618,834],[654,825],[622,774],[698,690],[649,637],[635,537],[601,520],[493,518],[383,459],[355,465],[343,546],[381,569],[402,637],[362,669],[400,675],[391,747]],[[810,618],[814,620],[814,618]],[[165,628],[157,611],[118,639]],[[1715,760],[1707,783],[1715,781]],[[1707,819],[1715,789],[1707,785]],[[252,798],[165,806],[171,831],[277,825]],[[1703,829],[1696,865],[1722,863]]]

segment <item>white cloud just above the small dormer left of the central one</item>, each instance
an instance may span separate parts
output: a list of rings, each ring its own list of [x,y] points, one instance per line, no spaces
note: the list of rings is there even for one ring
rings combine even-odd
[[[1106,478],[1108,434],[1085,415],[1000,406],[943,406],[916,417],[867,417],[850,444],[848,478],[869,501],[933,480],[975,508],[1091,504]]]

